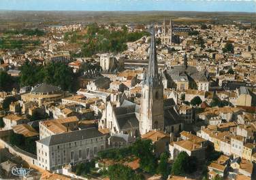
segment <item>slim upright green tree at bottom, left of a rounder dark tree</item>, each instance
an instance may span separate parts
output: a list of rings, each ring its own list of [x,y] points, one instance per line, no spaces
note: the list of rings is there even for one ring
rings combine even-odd
[[[170,164],[168,162],[168,158],[169,154],[166,152],[162,153],[157,167],[157,173],[161,174],[163,179],[167,179],[168,175],[170,175]]]

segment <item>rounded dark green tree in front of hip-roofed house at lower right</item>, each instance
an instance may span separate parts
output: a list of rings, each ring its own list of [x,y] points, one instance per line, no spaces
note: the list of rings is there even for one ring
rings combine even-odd
[[[172,164],[172,175],[185,175],[188,163],[189,155],[185,151],[180,152],[174,164]]]

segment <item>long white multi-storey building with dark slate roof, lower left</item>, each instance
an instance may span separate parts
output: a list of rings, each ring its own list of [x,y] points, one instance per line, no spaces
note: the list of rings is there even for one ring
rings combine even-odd
[[[65,164],[90,160],[106,149],[106,135],[96,128],[54,134],[36,142],[41,168],[57,170]]]

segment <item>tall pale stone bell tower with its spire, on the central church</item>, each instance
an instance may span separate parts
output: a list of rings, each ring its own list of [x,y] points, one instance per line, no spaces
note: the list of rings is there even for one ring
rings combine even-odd
[[[140,101],[140,134],[153,129],[163,130],[163,83],[158,72],[155,29],[151,32],[148,69],[144,76]]]

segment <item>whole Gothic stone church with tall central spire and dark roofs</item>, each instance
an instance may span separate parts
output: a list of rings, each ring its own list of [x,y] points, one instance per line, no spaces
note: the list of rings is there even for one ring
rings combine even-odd
[[[142,81],[140,104],[128,101],[125,96],[118,103],[109,101],[99,128],[109,128],[110,134],[128,134],[138,137],[150,130],[180,132],[183,120],[176,110],[173,98],[163,97],[162,74],[157,65],[155,29],[151,33],[148,69]]]

